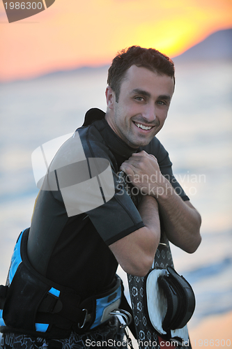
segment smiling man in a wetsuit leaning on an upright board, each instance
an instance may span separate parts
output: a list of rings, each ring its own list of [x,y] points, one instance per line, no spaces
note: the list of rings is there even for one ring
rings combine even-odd
[[[125,348],[109,314],[121,302],[118,263],[145,276],[161,221],[183,250],[193,253],[201,242],[200,215],[155,138],[173,95],[173,62],[156,50],[130,47],[115,57],[108,84],[107,112],[89,110],[59,149],[31,228],[17,242],[1,302],[1,348],[89,348],[109,340],[115,340],[111,348]],[[120,171],[137,188],[135,205],[118,183]]]

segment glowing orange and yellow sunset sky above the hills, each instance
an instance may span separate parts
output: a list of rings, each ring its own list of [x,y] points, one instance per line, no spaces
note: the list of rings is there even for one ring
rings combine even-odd
[[[231,28],[231,13],[231,0],[56,0],[9,24],[0,1],[0,80],[108,64],[130,45],[174,57]]]

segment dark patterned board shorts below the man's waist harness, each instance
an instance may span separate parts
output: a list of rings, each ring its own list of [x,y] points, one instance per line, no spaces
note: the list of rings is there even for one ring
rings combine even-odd
[[[117,318],[107,325],[101,325],[93,332],[77,334],[72,332],[68,339],[44,339],[26,334],[5,333],[0,349],[88,349],[111,348],[127,349],[125,332],[119,327]]]

